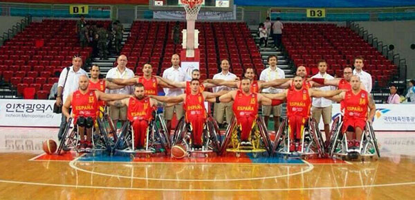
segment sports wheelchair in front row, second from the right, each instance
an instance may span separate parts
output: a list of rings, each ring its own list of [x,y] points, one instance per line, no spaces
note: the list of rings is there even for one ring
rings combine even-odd
[[[282,124],[279,126],[277,131],[277,136],[274,140],[273,154],[282,154],[285,158],[288,156],[320,156],[324,157],[326,152],[324,150],[324,142],[322,138],[322,133],[318,128],[315,119],[308,118],[306,124],[304,125],[301,144],[299,151],[290,151],[291,141],[290,139],[290,128],[288,126],[288,118],[285,118]]]

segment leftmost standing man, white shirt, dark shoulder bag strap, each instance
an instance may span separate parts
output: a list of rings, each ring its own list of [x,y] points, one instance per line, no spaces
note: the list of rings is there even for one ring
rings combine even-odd
[[[59,105],[60,107],[62,107],[68,95],[70,95],[78,89],[80,76],[88,75],[86,71],[81,69],[81,66],[82,58],[78,55],[75,55],[72,58],[72,66],[63,69],[61,74],[59,75],[59,81],[57,82],[57,96],[55,104]],[[69,69],[69,71],[67,69]],[[68,75],[68,78],[66,78],[66,75]],[[57,138],[59,138],[59,140],[62,139],[62,134],[64,134],[65,127],[66,116],[62,113],[59,133],[57,134]]]

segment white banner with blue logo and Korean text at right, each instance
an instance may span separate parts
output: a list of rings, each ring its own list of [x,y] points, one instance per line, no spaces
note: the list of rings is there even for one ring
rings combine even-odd
[[[415,104],[376,104],[375,131],[415,131]],[[340,104],[333,104],[332,121],[340,115]],[[323,123],[320,121],[320,129]]]

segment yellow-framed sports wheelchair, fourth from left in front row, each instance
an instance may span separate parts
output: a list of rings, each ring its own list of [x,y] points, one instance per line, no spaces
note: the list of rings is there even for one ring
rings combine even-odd
[[[221,146],[221,154],[224,154],[225,152],[234,152],[235,156],[239,157],[241,156],[241,153],[252,153],[254,158],[257,158],[259,154],[264,152],[267,152],[268,156],[271,155],[273,145],[268,136],[265,122],[260,116],[255,119],[248,138],[252,145],[242,146],[240,136],[241,129],[237,125],[237,119],[233,117],[225,132],[225,139]]]

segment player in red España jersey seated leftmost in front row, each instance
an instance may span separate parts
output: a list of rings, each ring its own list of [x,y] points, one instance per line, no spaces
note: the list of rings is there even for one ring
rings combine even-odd
[[[129,95],[107,94],[100,91],[92,91],[88,88],[88,76],[80,76],[79,89],[71,93],[66,98],[62,113],[66,116],[68,122],[71,116],[73,124],[78,125],[80,134],[80,148],[91,149],[92,127],[97,118],[98,100],[120,100],[129,97]],[[69,113],[69,107],[72,107],[72,115]],[[84,136],[86,128],[86,140]]]

